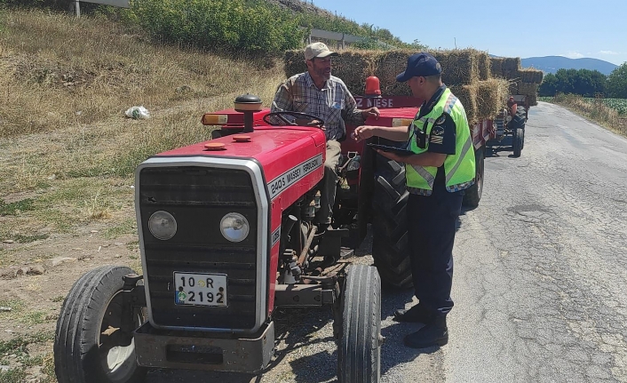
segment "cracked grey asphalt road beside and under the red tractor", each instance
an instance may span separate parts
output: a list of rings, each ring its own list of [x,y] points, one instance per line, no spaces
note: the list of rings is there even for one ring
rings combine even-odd
[[[384,291],[383,382],[627,382],[627,140],[546,103],[525,140],[520,158],[486,159],[480,206],[460,217],[448,345],[403,347],[418,325],[391,317],[412,293]],[[277,331],[261,376],[148,382],[337,381],[329,311],[281,313]]]

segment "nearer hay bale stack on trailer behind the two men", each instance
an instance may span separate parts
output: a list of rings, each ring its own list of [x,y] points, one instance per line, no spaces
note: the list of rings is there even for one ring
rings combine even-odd
[[[377,76],[384,96],[410,96],[409,86],[397,83],[396,75],[405,70],[409,56],[414,53],[346,50],[335,59],[332,73],[341,78],[353,94],[363,94],[366,78]],[[470,124],[493,118],[505,107],[509,82],[491,76],[487,52],[465,49],[431,53],[442,66],[442,81],[462,101]],[[303,56],[301,50],[286,52],[286,76],[306,71]]]

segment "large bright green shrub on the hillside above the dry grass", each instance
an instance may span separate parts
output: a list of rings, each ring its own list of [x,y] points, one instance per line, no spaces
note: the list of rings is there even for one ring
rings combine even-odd
[[[306,33],[298,17],[261,0],[141,0],[131,10],[154,36],[223,52],[276,54]]]

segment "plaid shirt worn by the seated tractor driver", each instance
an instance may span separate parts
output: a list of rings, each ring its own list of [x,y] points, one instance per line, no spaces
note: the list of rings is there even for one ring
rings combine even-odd
[[[321,90],[314,84],[309,72],[291,76],[283,83],[272,102],[272,112],[301,112],[324,121],[327,140],[338,140],[346,133],[346,122],[361,125],[361,110],[342,80],[331,76]]]

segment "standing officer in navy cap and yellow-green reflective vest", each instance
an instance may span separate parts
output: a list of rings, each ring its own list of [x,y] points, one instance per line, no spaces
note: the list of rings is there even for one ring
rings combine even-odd
[[[355,140],[373,136],[408,141],[415,153],[397,156],[377,149],[391,160],[404,163],[409,190],[408,234],[411,271],[419,303],[397,310],[399,322],[425,323],[404,339],[414,348],[448,343],[446,315],[453,307],[453,243],[461,213],[464,189],[474,183],[472,139],[462,103],[441,81],[440,63],[429,53],[409,57],[407,69],[396,76],[407,82],[414,97],[425,100],[409,128],[359,126]]]

